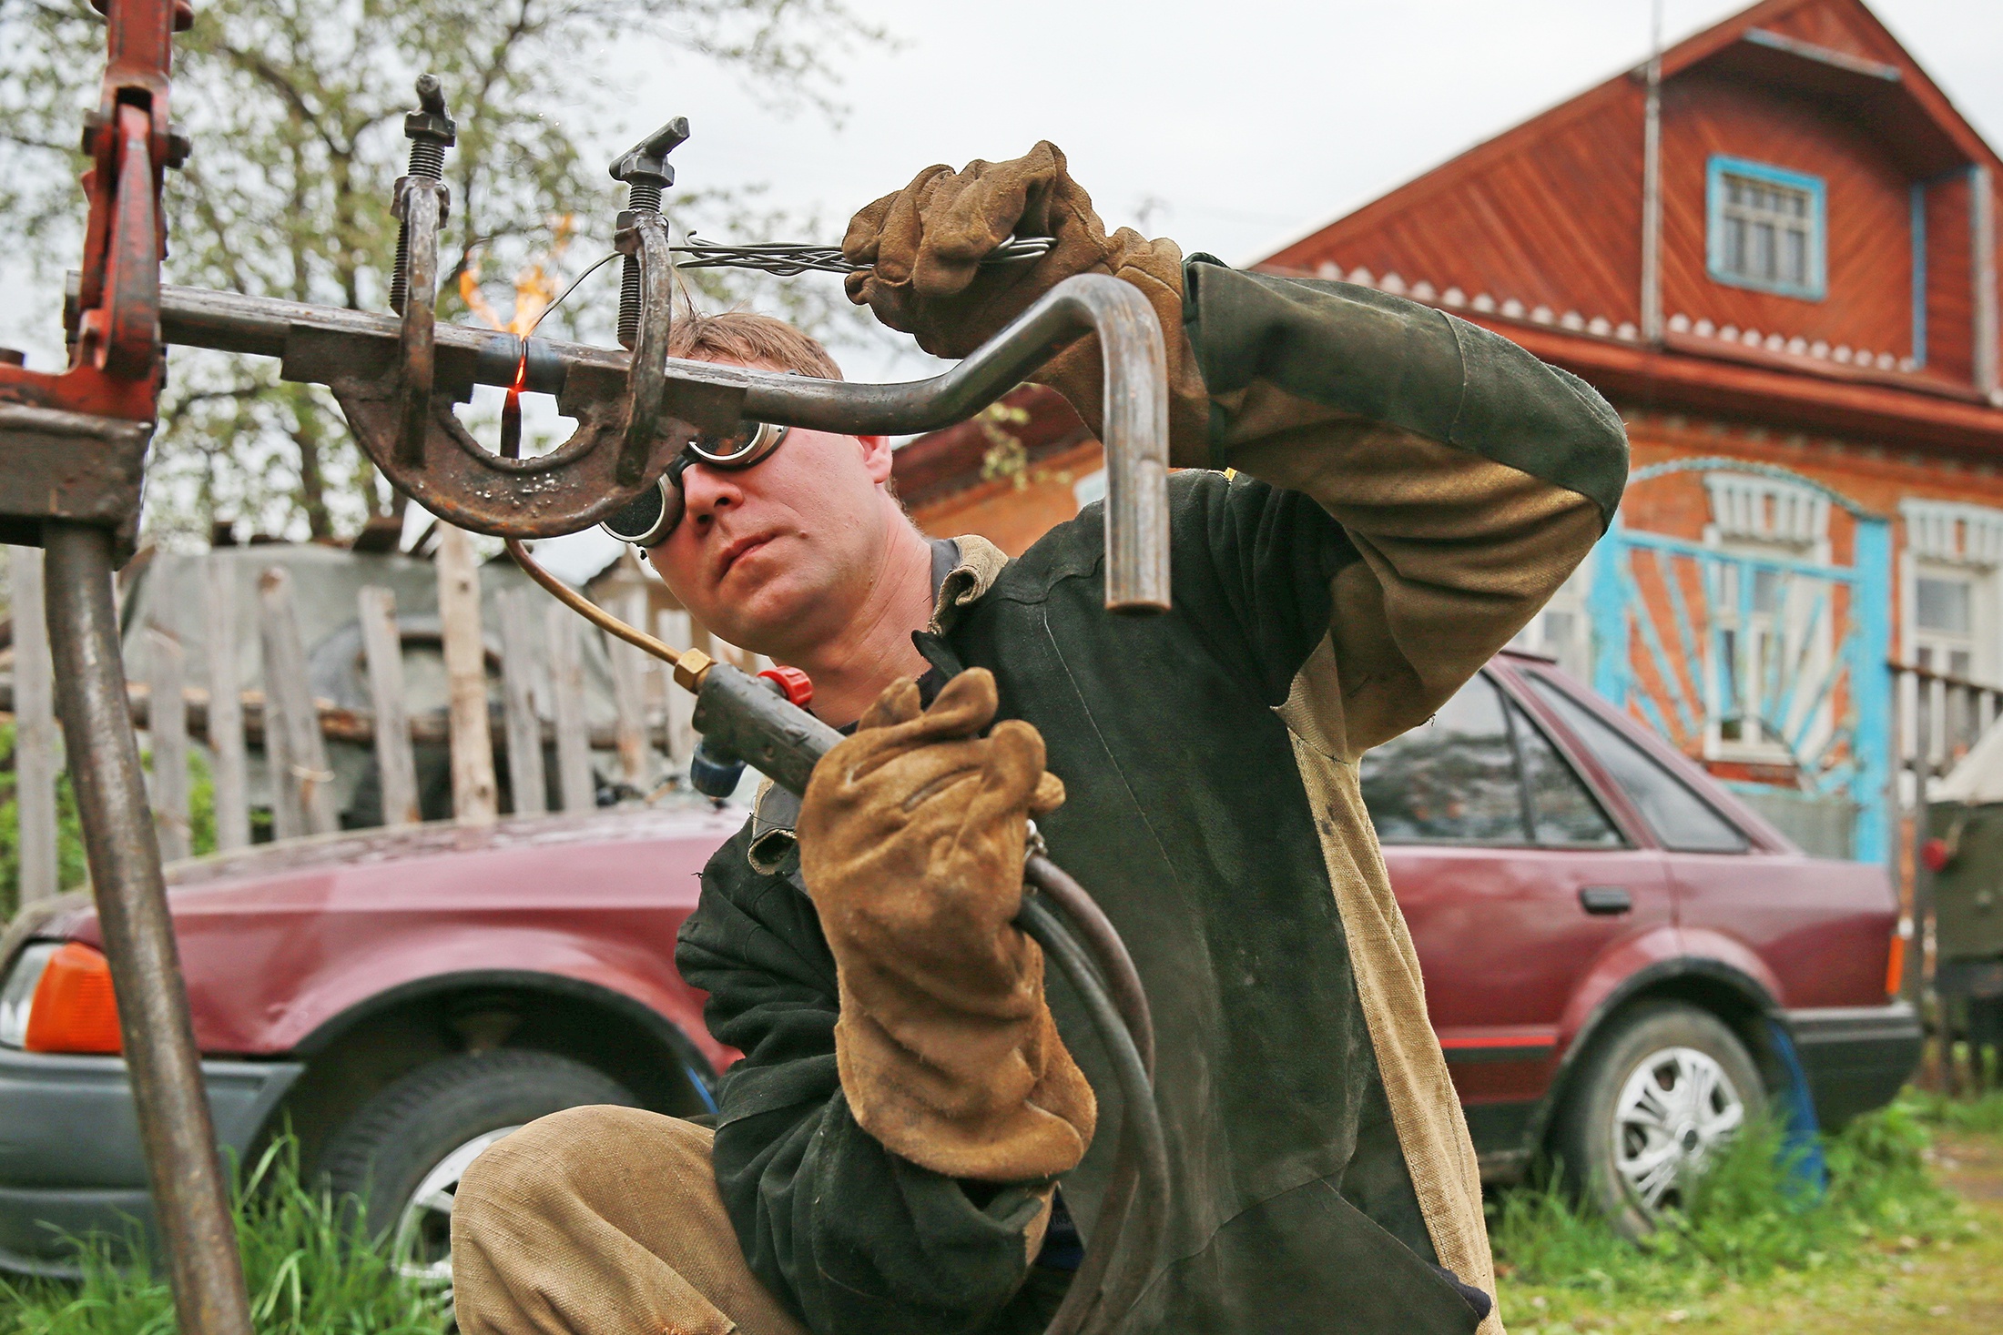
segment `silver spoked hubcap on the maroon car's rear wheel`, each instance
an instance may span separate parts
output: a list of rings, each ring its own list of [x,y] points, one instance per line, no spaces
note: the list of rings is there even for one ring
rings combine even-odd
[[[1614,1169],[1646,1213],[1685,1207],[1685,1185],[1745,1125],[1725,1067],[1695,1047],[1650,1053],[1614,1101]]]

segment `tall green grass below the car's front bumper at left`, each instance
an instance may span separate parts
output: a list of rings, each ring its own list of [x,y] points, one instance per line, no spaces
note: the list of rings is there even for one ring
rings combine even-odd
[[[292,1141],[272,1145],[234,1191],[250,1321],[258,1335],[439,1335],[437,1293],[405,1279],[387,1249],[298,1177]],[[78,1243],[80,1283],[0,1281],[10,1335],[172,1335],[166,1279],[140,1259],[114,1259],[108,1239]]]

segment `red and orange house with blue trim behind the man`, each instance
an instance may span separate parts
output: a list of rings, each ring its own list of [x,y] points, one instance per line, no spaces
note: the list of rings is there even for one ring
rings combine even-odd
[[[1260,268],[1450,310],[1606,394],[1634,480],[1522,644],[1805,845],[1885,859],[1919,727],[1945,759],[1987,723],[1925,711],[1935,679],[2003,679],[1999,172],[1861,0],[1763,0]],[[911,498],[1020,546],[1094,454],[1024,430],[1002,458],[995,426],[907,446]]]

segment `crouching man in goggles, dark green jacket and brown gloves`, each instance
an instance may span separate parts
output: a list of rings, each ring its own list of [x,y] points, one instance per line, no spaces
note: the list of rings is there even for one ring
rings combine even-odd
[[[1054,244],[981,266],[1012,234]],[[1014,560],[919,534],[877,438],[691,452],[653,518],[621,520],[705,624],[805,671],[855,731],[801,803],[761,797],[681,931],[743,1053],[713,1127],[573,1109],[481,1157],[453,1217],[461,1329],[1042,1329],[1106,1191],[1118,1087],[1010,927],[1034,817],[1154,1005],[1170,1217],[1122,1329],[1500,1335],[1474,1151],[1356,761],[1580,562],[1626,478],[1620,418],[1452,314],[1108,234],[1052,144],[925,168],[843,250],[851,300],[939,356],[1072,274],[1152,302],[1174,608],[1106,616],[1096,504]],[[681,336],[829,374],[759,316]],[[1098,426],[1092,340],[1038,378]]]

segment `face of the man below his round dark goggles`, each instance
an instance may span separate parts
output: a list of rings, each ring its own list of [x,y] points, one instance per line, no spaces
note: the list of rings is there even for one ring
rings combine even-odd
[[[883,436],[793,428],[749,468],[689,464],[685,510],[647,554],[697,620],[785,654],[839,634],[867,598],[897,514]]]

